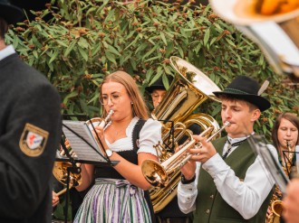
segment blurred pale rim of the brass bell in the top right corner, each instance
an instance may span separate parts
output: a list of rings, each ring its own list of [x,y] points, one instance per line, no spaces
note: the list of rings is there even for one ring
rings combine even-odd
[[[285,14],[253,14],[250,12],[250,5],[248,5],[251,2],[252,1],[245,0],[210,0],[210,5],[222,19],[236,25],[251,25],[253,23],[261,23],[265,21],[282,23],[299,15],[299,9],[295,9],[294,11]]]

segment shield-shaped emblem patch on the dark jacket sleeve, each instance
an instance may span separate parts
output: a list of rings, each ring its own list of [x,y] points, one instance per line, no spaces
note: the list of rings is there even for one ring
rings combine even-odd
[[[47,144],[49,133],[27,123],[20,138],[20,148],[28,156],[39,156]]]

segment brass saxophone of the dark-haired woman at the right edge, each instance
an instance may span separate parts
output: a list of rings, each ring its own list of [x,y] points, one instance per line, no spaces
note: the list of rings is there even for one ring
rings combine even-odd
[[[286,140],[286,148],[289,153],[288,153],[288,160],[285,162],[285,165],[283,165],[283,169],[285,171],[285,174],[289,176],[292,167],[292,160],[294,157],[294,153],[290,153],[292,152],[291,141]],[[270,201],[270,207],[272,213],[266,219],[266,223],[280,222],[280,217],[284,210],[284,203],[282,201],[282,198],[283,198],[283,193],[281,192],[281,190],[279,190],[278,186],[276,185],[274,195],[272,197],[272,200]]]

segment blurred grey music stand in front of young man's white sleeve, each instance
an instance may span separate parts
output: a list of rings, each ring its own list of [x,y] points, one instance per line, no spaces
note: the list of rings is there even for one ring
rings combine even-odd
[[[270,172],[276,184],[279,186],[279,189],[285,193],[286,185],[289,182],[289,178],[286,176],[282,166],[278,163],[278,160],[275,159],[273,153],[271,153],[268,148],[265,136],[264,135],[251,135],[248,137],[248,142],[253,149],[253,151],[260,155],[267,171]]]

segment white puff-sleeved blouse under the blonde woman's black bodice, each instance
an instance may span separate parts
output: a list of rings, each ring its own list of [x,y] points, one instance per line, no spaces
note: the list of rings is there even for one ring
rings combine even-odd
[[[134,126],[137,124],[139,119],[139,117],[135,116],[130,121],[130,124],[126,128],[127,137],[121,138],[112,144],[110,144],[106,139],[106,143],[112,151],[117,153],[120,151],[128,151],[133,149],[132,133]],[[111,125],[111,123],[108,125]],[[149,118],[140,130],[139,150],[137,153],[151,153],[157,155],[156,149],[153,146],[159,144],[159,142],[162,142],[161,124],[159,121]]]

